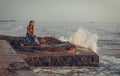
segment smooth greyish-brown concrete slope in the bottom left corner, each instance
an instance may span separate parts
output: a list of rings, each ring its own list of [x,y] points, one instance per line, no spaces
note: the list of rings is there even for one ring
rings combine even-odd
[[[9,42],[0,40],[0,76],[35,76]]]

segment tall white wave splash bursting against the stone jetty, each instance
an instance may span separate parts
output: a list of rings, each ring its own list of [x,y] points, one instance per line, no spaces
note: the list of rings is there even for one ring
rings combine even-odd
[[[88,32],[86,29],[79,28],[70,38],[61,36],[59,39],[62,41],[69,41],[76,46],[88,48],[98,53],[98,36],[96,34]]]

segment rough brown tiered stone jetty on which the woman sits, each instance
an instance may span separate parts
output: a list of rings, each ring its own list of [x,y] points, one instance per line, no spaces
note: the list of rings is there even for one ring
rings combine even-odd
[[[40,46],[27,46],[24,39],[0,35],[30,67],[99,66],[99,55],[92,50],[53,37],[38,37]]]

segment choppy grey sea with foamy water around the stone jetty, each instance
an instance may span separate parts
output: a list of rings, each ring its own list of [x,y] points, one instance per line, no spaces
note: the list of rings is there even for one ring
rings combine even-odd
[[[27,25],[28,22],[0,22],[0,35],[25,36]],[[81,42],[77,44],[89,47],[88,44],[94,42],[91,49],[97,46],[95,51],[100,56],[99,67],[38,67],[33,70],[37,76],[120,76],[120,23],[38,21],[35,23],[35,34],[41,37],[52,36],[70,41],[71,37],[76,36],[76,31]],[[86,43],[83,43],[85,41]]]

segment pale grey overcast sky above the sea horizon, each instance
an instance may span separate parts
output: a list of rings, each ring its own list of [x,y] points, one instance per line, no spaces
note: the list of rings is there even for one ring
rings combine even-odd
[[[120,0],[0,0],[0,20],[120,22]]]

